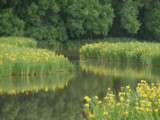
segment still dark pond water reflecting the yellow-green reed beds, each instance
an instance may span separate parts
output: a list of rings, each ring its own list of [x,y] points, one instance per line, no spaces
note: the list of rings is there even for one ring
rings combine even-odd
[[[0,120],[82,120],[85,95],[104,96],[107,88],[133,88],[141,79],[160,80],[159,66],[84,61],[70,57],[74,73],[0,79]]]

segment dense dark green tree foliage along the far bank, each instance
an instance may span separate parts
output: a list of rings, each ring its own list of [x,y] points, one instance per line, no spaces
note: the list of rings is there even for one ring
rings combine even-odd
[[[50,45],[108,33],[158,38],[159,11],[158,0],[1,0],[0,35],[29,36]]]

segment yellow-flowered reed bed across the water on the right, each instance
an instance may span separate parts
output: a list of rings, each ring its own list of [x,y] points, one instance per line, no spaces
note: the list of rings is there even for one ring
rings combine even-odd
[[[99,42],[80,49],[81,59],[118,61],[123,63],[160,64],[160,44],[147,42]]]

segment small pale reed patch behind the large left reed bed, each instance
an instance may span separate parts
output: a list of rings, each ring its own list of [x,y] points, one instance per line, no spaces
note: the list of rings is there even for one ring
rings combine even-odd
[[[0,44],[9,44],[17,47],[37,47],[37,42],[34,39],[26,37],[0,37]]]

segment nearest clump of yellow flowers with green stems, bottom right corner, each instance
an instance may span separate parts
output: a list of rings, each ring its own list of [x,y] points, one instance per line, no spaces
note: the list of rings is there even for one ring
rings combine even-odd
[[[104,98],[84,97],[86,120],[159,120],[160,83],[142,80],[136,89],[122,87],[116,93],[110,88]]]

